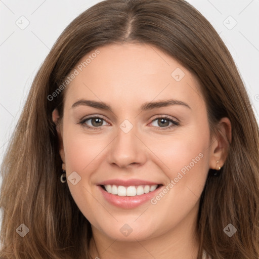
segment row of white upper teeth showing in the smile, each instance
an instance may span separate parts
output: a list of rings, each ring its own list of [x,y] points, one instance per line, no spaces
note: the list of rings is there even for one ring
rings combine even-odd
[[[149,193],[154,191],[158,185],[139,185],[137,188],[135,186],[116,186],[116,185],[104,185],[104,188],[108,193],[118,195],[118,196],[136,196],[144,193]]]

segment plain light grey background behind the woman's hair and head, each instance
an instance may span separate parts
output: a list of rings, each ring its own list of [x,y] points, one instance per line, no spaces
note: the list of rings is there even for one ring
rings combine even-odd
[[[0,164],[40,64],[65,27],[98,2],[0,0]],[[220,33],[259,121],[259,0],[188,2]]]

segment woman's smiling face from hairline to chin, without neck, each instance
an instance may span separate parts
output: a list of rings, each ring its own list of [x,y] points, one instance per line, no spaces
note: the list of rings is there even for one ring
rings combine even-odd
[[[65,89],[60,154],[77,206],[112,239],[192,230],[217,165],[197,80],[149,45],[98,50]]]

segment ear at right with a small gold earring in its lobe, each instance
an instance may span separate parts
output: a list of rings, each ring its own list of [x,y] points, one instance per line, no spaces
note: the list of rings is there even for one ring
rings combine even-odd
[[[218,124],[217,135],[213,136],[210,147],[209,168],[217,169],[222,167],[226,161],[229,151],[229,143],[232,141],[231,122],[224,117]],[[219,161],[217,163],[217,161]]]

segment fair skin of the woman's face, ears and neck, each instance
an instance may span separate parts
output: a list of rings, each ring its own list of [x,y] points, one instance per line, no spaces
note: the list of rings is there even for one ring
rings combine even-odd
[[[222,118],[222,134],[210,142],[206,106],[197,80],[159,49],[114,44],[98,50],[100,54],[65,89],[64,116],[57,126],[67,179],[74,171],[81,177],[77,184],[67,184],[92,225],[91,255],[101,259],[196,259],[200,195],[209,168],[222,167],[225,162],[231,123]],[[171,76],[176,68],[185,73],[180,81]],[[72,107],[82,99],[106,103],[112,111],[83,104]],[[146,102],[168,99],[189,107],[176,104],[140,112]],[[79,123],[89,115],[101,119]],[[166,115],[180,125],[167,121],[163,126],[157,117]],[[53,120],[58,118],[54,110]],[[127,133],[120,128],[125,119],[133,125]],[[192,162],[197,156],[198,161]],[[149,199],[134,208],[118,207],[104,198],[98,186],[105,180],[140,179],[165,187],[187,165],[191,169],[156,204]],[[132,229],[127,236],[120,231],[124,224]]]

